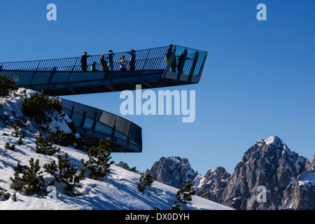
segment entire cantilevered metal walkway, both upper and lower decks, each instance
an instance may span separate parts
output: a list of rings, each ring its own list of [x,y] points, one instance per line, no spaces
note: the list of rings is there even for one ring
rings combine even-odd
[[[80,57],[45,59],[28,62],[0,62],[0,75],[15,80],[16,85],[41,91],[50,96],[89,94],[188,85],[200,82],[207,52],[174,45],[168,62],[169,47],[137,50],[135,69],[120,71],[118,59],[127,52],[115,53],[113,70],[102,71],[101,55],[87,58],[87,67],[97,62],[97,71],[81,71]],[[181,66],[172,69],[174,58],[183,54]],[[107,57],[108,55],[105,55]],[[127,66],[128,67],[128,66]],[[64,112],[73,120],[78,132],[89,145],[98,145],[99,139],[111,138],[113,152],[141,152],[141,127],[124,118],[90,106],[62,99]]]

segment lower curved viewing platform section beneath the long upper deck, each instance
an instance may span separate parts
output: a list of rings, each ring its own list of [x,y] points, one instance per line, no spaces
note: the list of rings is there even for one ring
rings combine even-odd
[[[76,125],[83,141],[90,146],[99,146],[101,139],[111,139],[113,153],[141,153],[141,127],[112,113],[60,99],[63,111]]]

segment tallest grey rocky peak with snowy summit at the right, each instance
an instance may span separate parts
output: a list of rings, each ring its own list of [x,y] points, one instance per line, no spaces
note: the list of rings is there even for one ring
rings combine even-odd
[[[235,209],[284,209],[283,202],[288,204],[298,191],[290,186],[296,185],[297,176],[308,165],[306,158],[290,151],[279,137],[257,141],[235,167],[222,203]],[[260,186],[266,189],[265,202],[258,200]]]

